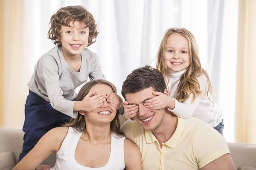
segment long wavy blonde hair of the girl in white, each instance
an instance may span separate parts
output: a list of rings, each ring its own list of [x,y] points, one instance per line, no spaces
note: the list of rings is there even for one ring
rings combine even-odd
[[[170,28],[166,31],[166,34],[164,35],[158,50],[156,68],[163,74],[163,77],[165,78],[168,84],[170,81],[171,75],[165,64],[164,54],[166,51],[167,38],[173,33],[182,35],[188,41],[188,54],[189,54],[189,62],[190,62],[190,65],[187,68],[186,72],[180,76],[180,83],[177,87],[178,93],[177,93],[176,99],[179,102],[185,102],[189,98],[189,95],[193,94],[192,102],[194,102],[196,97],[202,94],[202,91],[200,89],[200,84],[197,78],[202,74],[204,74],[207,77],[207,84],[208,84],[207,97],[210,101],[212,101],[208,95],[208,94],[211,94],[213,97],[212,85],[211,85],[209,76],[207,74],[207,71],[205,71],[201,66],[201,62],[198,57],[198,47],[195,41],[195,37],[187,29]]]

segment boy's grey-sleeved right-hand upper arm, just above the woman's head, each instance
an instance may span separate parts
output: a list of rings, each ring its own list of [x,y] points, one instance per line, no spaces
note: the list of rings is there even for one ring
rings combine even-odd
[[[97,56],[96,53],[93,53],[94,57],[91,63],[91,71],[89,74],[90,80],[95,80],[95,79],[106,79],[104,74],[102,73],[102,68],[100,66],[99,62],[99,57]]]

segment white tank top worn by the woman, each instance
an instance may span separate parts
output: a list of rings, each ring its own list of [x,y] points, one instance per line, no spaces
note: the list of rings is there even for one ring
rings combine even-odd
[[[111,134],[111,151],[108,163],[104,167],[84,167],[75,159],[75,151],[81,132],[69,127],[60,150],[56,153],[55,166],[50,170],[124,170],[124,141],[125,137],[117,138]]]

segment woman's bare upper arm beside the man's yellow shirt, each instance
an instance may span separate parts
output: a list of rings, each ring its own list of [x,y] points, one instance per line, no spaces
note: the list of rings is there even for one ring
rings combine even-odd
[[[126,170],[142,170],[140,149],[129,139],[125,139],[124,154]]]

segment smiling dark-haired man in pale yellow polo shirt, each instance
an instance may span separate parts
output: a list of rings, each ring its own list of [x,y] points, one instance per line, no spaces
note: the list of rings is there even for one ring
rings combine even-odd
[[[210,125],[167,108],[146,108],[154,91],[169,96],[162,74],[149,66],[134,70],[122,85],[122,96],[138,112],[121,130],[140,148],[143,170],[236,170],[227,142]]]

